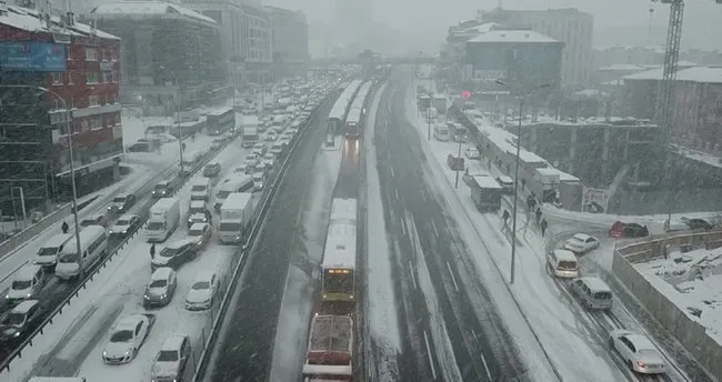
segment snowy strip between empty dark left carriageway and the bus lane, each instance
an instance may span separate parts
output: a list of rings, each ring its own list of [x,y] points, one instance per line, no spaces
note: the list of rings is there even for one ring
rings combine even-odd
[[[300,235],[294,235],[290,249],[291,267],[275,330],[270,381],[301,380],[300,365],[305,361],[309,323],[319,295],[318,269],[340,167],[340,150],[321,150],[313,162],[310,189],[303,192],[304,205],[298,220],[303,229]]]

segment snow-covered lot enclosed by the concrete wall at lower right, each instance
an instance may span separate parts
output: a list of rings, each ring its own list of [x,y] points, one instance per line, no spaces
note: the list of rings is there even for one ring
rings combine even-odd
[[[634,264],[660,293],[722,343],[722,248],[679,251]]]

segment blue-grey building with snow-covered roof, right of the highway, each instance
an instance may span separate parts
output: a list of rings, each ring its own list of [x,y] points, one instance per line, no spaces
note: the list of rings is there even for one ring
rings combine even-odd
[[[564,43],[531,30],[492,30],[467,41],[464,80],[559,86]]]

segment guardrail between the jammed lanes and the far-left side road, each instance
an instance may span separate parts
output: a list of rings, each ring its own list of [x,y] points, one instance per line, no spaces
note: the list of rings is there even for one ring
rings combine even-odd
[[[233,142],[235,142],[237,139],[240,138],[240,137],[241,137],[241,134],[234,137],[233,140],[231,140],[231,141],[229,141],[229,142],[225,142],[225,144],[223,144],[223,147],[222,147],[221,149],[213,151],[213,155],[207,155],[207,158],[204,158],[204,159],[201,161],[201,163],[200,163],[195,169],[193,169],[193,171],[192,171],[191,173],[189,173],[187,177],[183,177],[183,178],[182,178],[181,187],[179,187],[177,190],[173,191],[173,195],[176,195],[176,193],[178,193],[178,192],[183,188],[183,185],[188,182],[188,180],[191,179],[191,178],[192,178],[192,177],[193,177],[198,171],[200,171],[200,170],[203,168],[203,165],[204,165],[205,163],[208,163],[208,162],[210,162],[212,159],[214,159],[215,155],[218,155],[218,153],[220,153],[221,151],[223,151],[223,149],[225,149],[225,147],[228,147],[229,144],[232,144]],[[169,171],[174,171],[174,169],[177,169],[177,165],[178,165],[178,164],[171,164],[170,167],[168,167],[167,169],[164,169],[164,170],[163,170],[159,175],[157,175],[156,178],[158,178],[158,177],[167,177],[167,175],[168,175],[167,172],[169,172]],[[139,192],[139,193],[150,192],[154,185],[156,185],[156,184],[154,184],[153,182],[148,182],[148,183],[146,183],[146,184],[143,185],[143,188],[141,188],[142,190],[147,190],[147,191],[141,191],[141,190],[139,190],[138,192]],[[12,363],[12,361],[13,361],[16,358],[21,358],[21,356],[22,356],[22,351],[23,351],[27,346],[32,346],[32,341],[36,339],[36,336],[38,336],[39,334],[42,334],[42,333],[43,333],[43,329],[46,328],[46,325],[48,325],[48,324],[52,324],[52,320],[53,320],[57,315],[62,314],[62,311],[63,311],[63,309],[66,308],[66,305],[70,305],[71,300],[73,300],[74,298],[77,298],[77,296],[78,296],[78,293],[79,293],[81,290],[84,290],[84,289],[86,289],[86,284],[87,284],[88,282],[92,281],[93,278],[96,277],[96,274],[98,274],[98,273],[100,272],[100,270],[102,270],[103,268],[106,268],[106,265],[107,265],[107,263],[108,263],[109,261],[111,261],[116,255],[118,255],[118,253],[120,252],[120,250],[122,250],[122,249],[126,247],[126,244],[128,243],[128,241],[129,241],[130,239],[132,239],[133,237],[136,237],[136,234],[138,233],[138,231],[139,231],[139,230],[144,225],[146,220],[148,220],[149,210],[150,210],[150,208],[153,205],[154,202],[156,202],[156,200],[154,200],[153,198],[151,198],[148,202],[146,202],[146,204],[142,205],[141,210],[142,210],[143,212],[142,212],[142,214],[140,214],[141,223],[138,224],[138,227],[136,228],[136,230],[134,230],[131,234],[129,234],[129,235],[127,235],[126,238],[123,238],[123,240],[122,240],[120,243],[118,243],[118,245],[112,250],[112,252],[111,252],[109,255],[107,255],[107,257],[102,260],[102,262],[100,262],[99,264],[94,265],[94,268],[92,269],[92,271],[84,273],[84,279],[83,279],[83,281],[82,281],[80,284],[78,284],[78,286],[76,286],[76,288],[74,288],[74,289],[73,289],[73,290],[68,294],[68,296],[66,296],[66,298],[62,300],[62,302],[61,302],[60,304],[58,304],[58,306],[57,306],[57,308],[56,308],[56,309],[54,309],[50,314],[48,314],[48,316],[42,321],[42,323],[41,323],[40,325],[38,325],[38,328],[34,329],[34,330],[32,331],[32,333],[30,333],[30,335],[28,335],[28,338],[26,338],[26,339],[20,343],[20,345],[19,345],[16,350],[13,350],[12,353],[10,353],[10,355],[9,355],[7,359],[2,360],[2,363],[0,364],[0,372],[2,372],[2,371],[4,371],[4,370],[10,370],[10,363]]]

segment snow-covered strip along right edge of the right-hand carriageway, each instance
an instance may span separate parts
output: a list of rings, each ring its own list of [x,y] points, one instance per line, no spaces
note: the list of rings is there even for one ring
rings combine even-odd
[[[554,380],[550,374],[549,359],[564,380],[625,380],[625,374],[616,368],[603,348],[604,343],[600,343],[603,339],[594,332],[581,308],[570,304],[566,293],[560,291],[546,274],[545,243],[532,232],[533,229],[520,235],[515,282],[509,284],[511,249],[501,232],[501,220],[495,214],[477,212],[463,181],[460,180],[459,189],[454,190],[455,172],[448,169],[445,159],[450,152],[457,153],[458,143],[427,141],[427,125],[418,119],[411,93],[408,94],[407,118],[418,127],[429,158],[437,159],[430,161],[433,172],[430,175],[439,179],[437,192],[450,207],[468,247],[474,249],[470,254],[478,264],[477,272],[500,311],[505,312],[504,319],[520,346],[529,374],[540,381]],[[525,220],[523,212],[520,220]],[[523,228],[523,223],[521,225]]]

